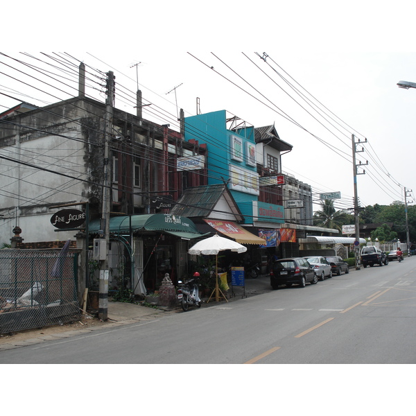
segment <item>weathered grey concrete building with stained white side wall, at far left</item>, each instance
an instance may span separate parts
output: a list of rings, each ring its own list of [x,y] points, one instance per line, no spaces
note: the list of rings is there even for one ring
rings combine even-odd
[[[207,149],[196,140],[184,141],[183,131],[143,119],[140,92],[137,114],[118,110],[108,96],[106,103],[85,96],[81,64],[78,96],[45,107],[21,103],[0,114],[0,243],[10,243],[18,228],[24,248],[48,247],[75,234],[85,238],[89,221],[104,211],[111,226],[118,216],[164,214],[166,220],[155,217],[153,228],[133,218],[143,226],[128,237],[110,227],[110,284],[123,286],[127,273],[128,286],[136,287],[134,280],[144,275],[145,286],[155,289],[166,271],[177,277],[186,270],[186,241],[200,236],[178,236],[179,219],[171,220],[168,211],[184,188],[207,184]],[[103,210],[105,189],[110,206]],[[51,218],[68,208],[87,220],[78,229],[57,230]],[[90,248],[102,227],[87,233]],[[125,272],[133,261],[136,270]]]

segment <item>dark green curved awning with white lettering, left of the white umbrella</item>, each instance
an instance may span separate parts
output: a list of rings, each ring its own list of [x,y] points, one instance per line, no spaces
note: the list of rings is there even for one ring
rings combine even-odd
[[[89,223],[89,232],[95,233],[101,227],[101,220]],[[171,214],[144,214],[132,216],[114,216],[110,218],[110,232],[130,234],[130,232],[160,231],[180,237],[181,239],[198,239],[201,234],[189,218]]]

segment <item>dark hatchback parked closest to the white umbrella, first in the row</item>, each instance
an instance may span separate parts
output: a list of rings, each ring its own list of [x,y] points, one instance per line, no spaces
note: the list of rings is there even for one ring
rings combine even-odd
[[[298,284],[301,288],[304,288],[306,282],[316,284],[318,283],[318,276],[315,275],[313,266],[303,257],[280,259],[272,264],[270,285],[273,290],[276,290],[281,284],[286,286]]]

